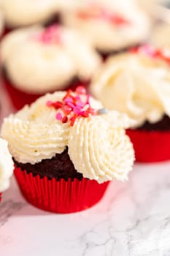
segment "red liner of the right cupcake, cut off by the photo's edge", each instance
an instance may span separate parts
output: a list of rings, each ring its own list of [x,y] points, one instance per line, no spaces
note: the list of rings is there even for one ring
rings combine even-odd
[[[170,132],[128,129],[137,162],[161,162],[170,159]]]

